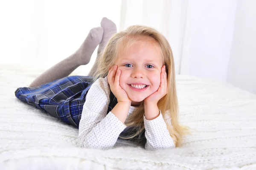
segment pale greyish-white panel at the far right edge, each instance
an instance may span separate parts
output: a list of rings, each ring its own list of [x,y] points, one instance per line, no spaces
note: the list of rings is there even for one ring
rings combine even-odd
[[[256,94],[256,1],[238,0],[227,81]]]

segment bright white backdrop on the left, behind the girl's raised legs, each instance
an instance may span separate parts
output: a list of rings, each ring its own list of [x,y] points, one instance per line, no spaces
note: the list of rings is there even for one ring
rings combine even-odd
[[[0,1],[0,64],[49,68],[75,52],[88,32],[108,17],[119,29],[120,0]],[[86,67],[89,72],[96,57]]]

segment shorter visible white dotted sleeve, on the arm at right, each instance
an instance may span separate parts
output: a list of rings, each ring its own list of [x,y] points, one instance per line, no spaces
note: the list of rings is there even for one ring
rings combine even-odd
[[[160,115],[153,119],[147,120],[144,115],[145,137],[147,142],[145,150],[157,150],[160,148],[175,148],[172,137],[169,134],[167,125]]]

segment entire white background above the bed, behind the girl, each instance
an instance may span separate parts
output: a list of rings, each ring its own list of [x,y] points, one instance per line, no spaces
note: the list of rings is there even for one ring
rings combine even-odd
[[[49,66],[79,48],[108,17],[140,24],[172,46],[176,74],[227,81],[256,94],[255,0],[9,0],[0,2],[0,62]],[[87,66],[79,67],[84,74]]]

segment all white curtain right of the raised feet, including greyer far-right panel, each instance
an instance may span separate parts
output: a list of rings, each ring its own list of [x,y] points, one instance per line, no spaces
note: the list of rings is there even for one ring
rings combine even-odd
[[[176,74],[228,81],[256,94],[254,6],[253,0],[122,0],[120,29],[152,26],[169,40]]]

